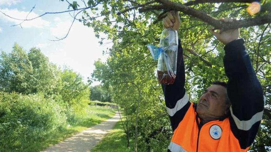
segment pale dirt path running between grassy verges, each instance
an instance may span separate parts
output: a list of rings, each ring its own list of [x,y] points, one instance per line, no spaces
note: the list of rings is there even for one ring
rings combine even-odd
[[[119,113],[111,119],[81,131],[42,152],[87,152],[91,150],[107,132],[119,121]]]

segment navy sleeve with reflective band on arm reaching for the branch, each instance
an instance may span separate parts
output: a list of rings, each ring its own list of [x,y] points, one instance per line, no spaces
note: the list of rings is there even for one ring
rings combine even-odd
[[[261,84],[244,46],[238,39],[224,47],[224,67],[229,78],[228,96],[232,103],[229,117],[231,130],[242,149],[249,147],[259,129],[264,100]]]

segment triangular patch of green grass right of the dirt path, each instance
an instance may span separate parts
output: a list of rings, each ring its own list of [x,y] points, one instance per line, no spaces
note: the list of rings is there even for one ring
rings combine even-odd
[[[127,147],[126,135],[123,131],[121,121],[117,122],[114,128],[97,144],[90,152],[132,152],[133,143]]]

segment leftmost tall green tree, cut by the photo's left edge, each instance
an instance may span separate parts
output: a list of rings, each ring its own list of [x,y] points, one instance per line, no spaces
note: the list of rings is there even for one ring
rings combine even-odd
[[[32,93],[32,63],[18,44],[11,53],[2,51],[0,59],[0,89],[4,92]]]

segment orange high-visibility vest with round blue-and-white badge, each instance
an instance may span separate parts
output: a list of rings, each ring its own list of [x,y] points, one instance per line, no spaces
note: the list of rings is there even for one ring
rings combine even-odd
[[[184,119],[173,133],[168,149],[172,152],[245,152],[230,128],[229,118],[205,123],[200,131],[196,111],[191,103]],[[197,118],[199,119],[199,118]]]

